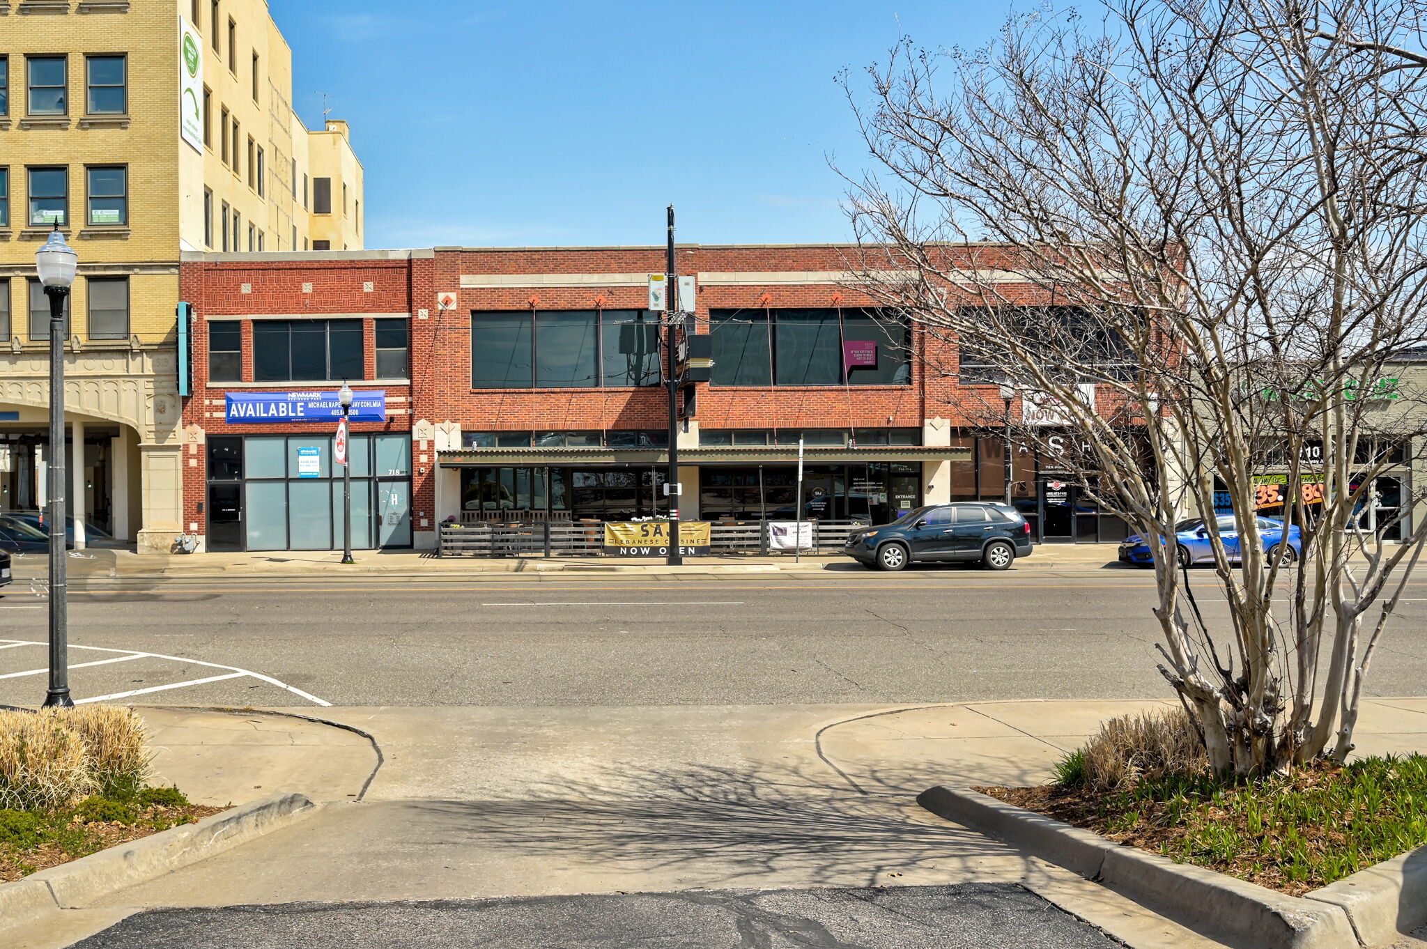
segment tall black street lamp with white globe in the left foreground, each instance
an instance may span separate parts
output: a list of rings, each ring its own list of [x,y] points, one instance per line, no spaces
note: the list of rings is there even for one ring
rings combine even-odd
[[[66,598],[68,582],[64,561],[64,300],[74,283],[78,254],[64,243],[59,225],[50,241],[34,254],[44,295],[50,298],[50,688],[44,706],[71,706],[68,616]],[[80,461],[83,445],[74,447],[74,464]]]

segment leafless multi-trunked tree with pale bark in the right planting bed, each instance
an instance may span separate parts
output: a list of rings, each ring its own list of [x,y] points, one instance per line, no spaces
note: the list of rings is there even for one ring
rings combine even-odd
[[[903,41],[870,103],[845,80],[878,161],[853,283],[919,324],[928,371],[1009,387],[1015,440],[1150,544],[1159,668],[1220,773],[1343,759],[1427,541],[1406,484],[1396,515],[1374,499],[1427,427],[1417,10],[1109,3],[979,51]]]

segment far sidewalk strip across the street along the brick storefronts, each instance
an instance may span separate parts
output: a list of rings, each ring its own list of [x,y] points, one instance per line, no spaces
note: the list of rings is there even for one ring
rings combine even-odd
[[[628,557],[437,557],[432,551],[357,551],[355,564],[342,564],[337,551],[270,551],[258,554],[144,554],[130,551],[71,551],[70,575],[76,578],[173,579],[186,577],[432,577],[477,574],[778,574],[809,571],[868,572],[841,554],[686,557],[682,567],[668,567],[661,559],[632,561]],[[16,557],[16,579],[43,577],[44,554]],[[1016,561],[1013,569],[1113,568],[1114,544],[1050,544]],[[915,574],[919,565],[908,568]],[[945,569],[932,565],[932,569]]]

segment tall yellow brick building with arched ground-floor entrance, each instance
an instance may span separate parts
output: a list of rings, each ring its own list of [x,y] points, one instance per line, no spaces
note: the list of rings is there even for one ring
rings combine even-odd
[[[47,502],[59,228],[70,509],[140,551],[184,529],[180,253],[362,247],[347,123],[310,131],[291,90],[265,0],[0,0],[0,515]]]

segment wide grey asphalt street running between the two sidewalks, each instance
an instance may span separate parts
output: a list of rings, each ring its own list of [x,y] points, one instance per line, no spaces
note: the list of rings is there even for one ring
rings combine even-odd
[[[0,704],[33,704],[44,599],[9,589]],[[1413,591],[1371,695],[1427,681],[1427,582]],[[71,681],[80,699],[258,706],[1163,698],[1152,604],[1149,575],[1113,569],[91,579]]]

